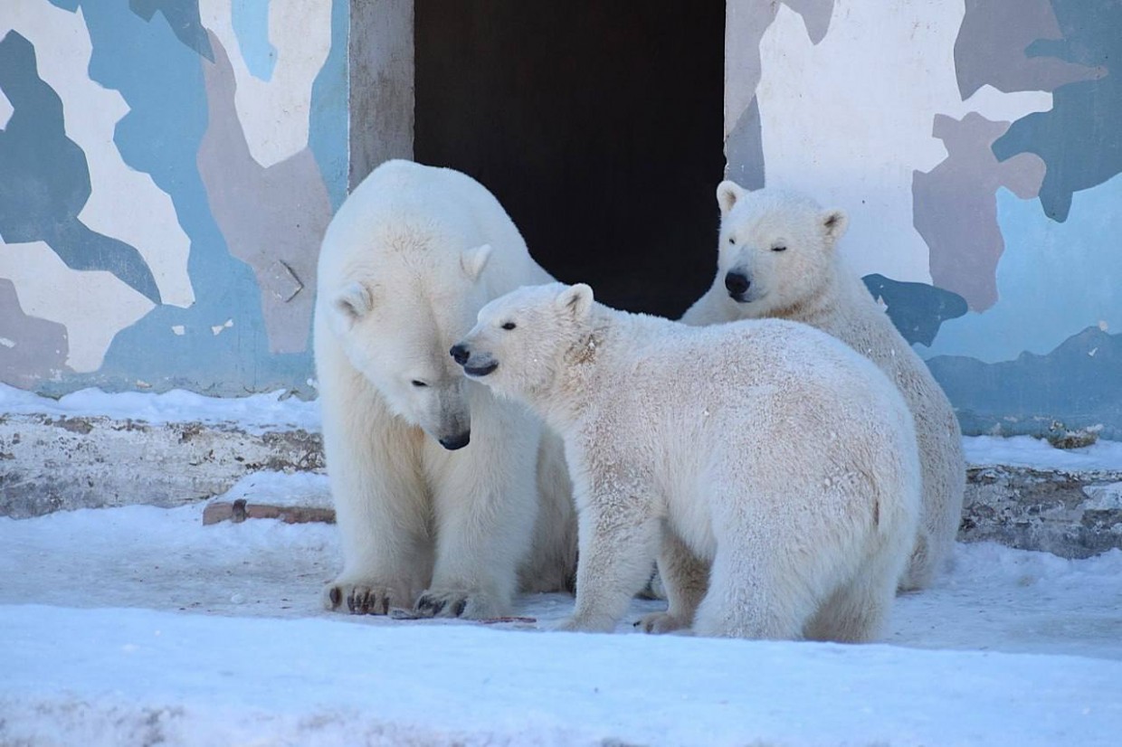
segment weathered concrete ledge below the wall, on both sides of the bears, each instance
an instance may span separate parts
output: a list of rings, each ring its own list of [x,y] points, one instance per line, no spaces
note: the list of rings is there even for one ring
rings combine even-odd
[[[0,516],[182,506],[222,496],[260,471],[322,474],[320,434],[258,434],[234,424],[0,416]],[[206,520],[332,520],[327,495],[311,492],[293,496],[285,506],[226,496],[206,509]],[[959,540],[991,540],[1064,557],[1122,548],[1122,470],[972,465]]]

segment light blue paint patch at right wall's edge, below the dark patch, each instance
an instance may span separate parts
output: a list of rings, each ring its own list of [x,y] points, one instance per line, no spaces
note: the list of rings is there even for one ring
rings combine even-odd
[[[1103,322],[1122,331],[1122,248],[1118,238],[1122,175],[1075,195],[1072,219],[1056,223],[1034,201],[997,191],[1005,252],[997,264],[997,303],[942,325],[931,354],[1010,360],[1045,354],[1079,330]]]

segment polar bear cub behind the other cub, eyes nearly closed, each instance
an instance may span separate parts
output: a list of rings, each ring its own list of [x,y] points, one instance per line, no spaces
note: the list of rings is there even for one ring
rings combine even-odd
[[[896,384],[916,419],[923,470],[920,526],[900,588],[927,587],[949,561],[966,486],[962,432],[950,402],[842,259],[836,245],[845,233],[845,213],[822,210],[799,194],[748,192],[735,182],[717,187],[717,276],[682,321],[705,325],[776,317],[810,324],[867,357]]]

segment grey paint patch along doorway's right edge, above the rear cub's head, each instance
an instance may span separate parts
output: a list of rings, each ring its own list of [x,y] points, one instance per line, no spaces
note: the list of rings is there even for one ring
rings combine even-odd
[[[834,0],[764,0],[746,3],[748,8],[737,24],[737,45],[753,49],[746,58],[747,65],[737,71],[736,85],[755,91],[760,85],[762,63],[760,61],[760,42],[767,28],[775,20],[780,4],[799,13],[807,27],[807,36],[811,44],[818,44],[830,27],[834,15]],[[732,42],[726,38],[726,43]],[[747,190],[758,190],[764,186],[764,151],[760,122],[760,102],[753,96],[747,109],[739,113],[736,125],[728,131],[725,140],[725,158],[728,162],[727,178],[735,181]]]

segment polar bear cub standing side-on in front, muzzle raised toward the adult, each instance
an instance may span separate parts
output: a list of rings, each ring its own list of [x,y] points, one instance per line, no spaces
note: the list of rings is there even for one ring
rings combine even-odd
[[[580,556],[562,629],[614,629],[655,556],[683,545],[711,564],[700,603],[674,563],[662,580],[699,635],[876,637],[912,547],[919,455],[908,405],[850,348],[780,320],[690,328],[549,284],[484,306],[450,352],[564,439]]]

